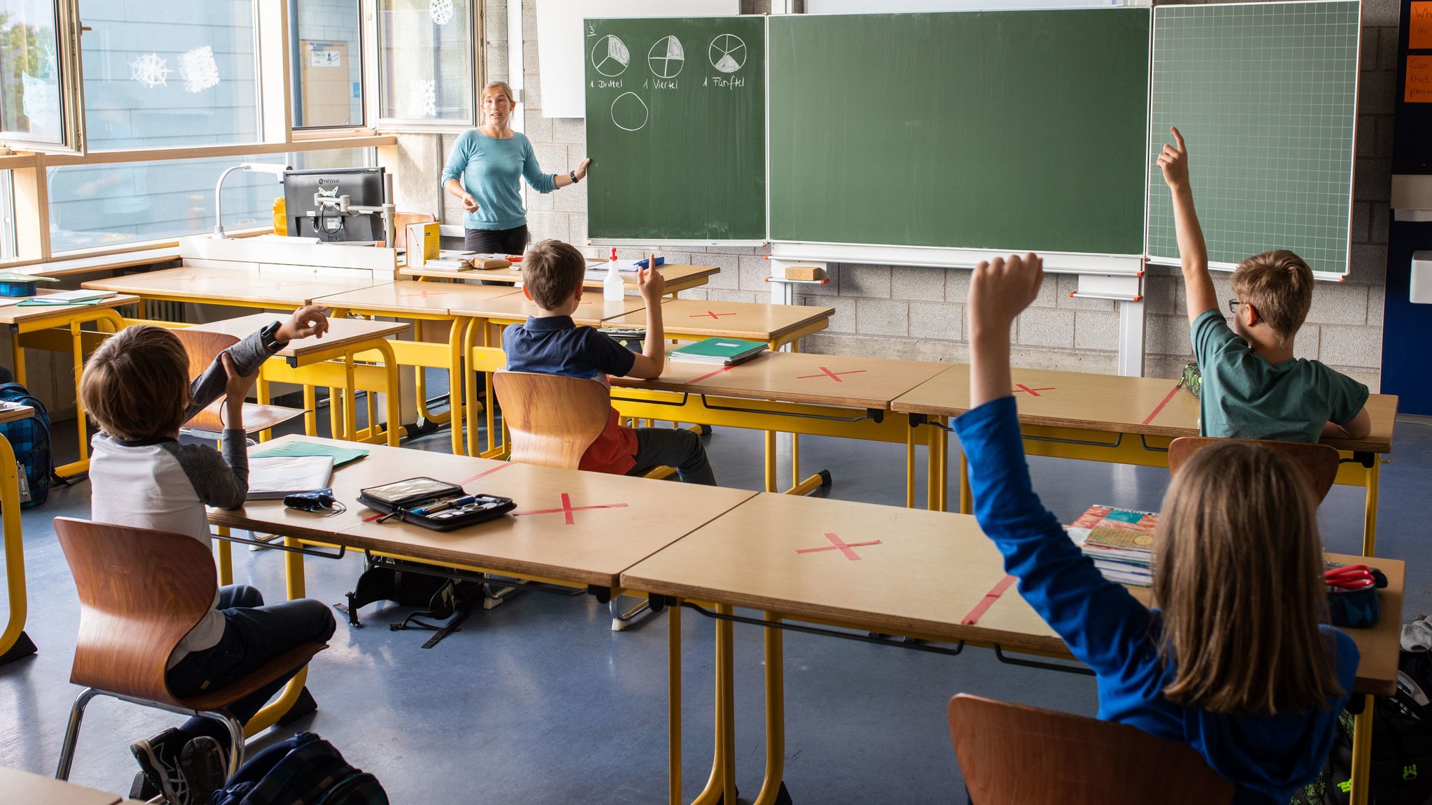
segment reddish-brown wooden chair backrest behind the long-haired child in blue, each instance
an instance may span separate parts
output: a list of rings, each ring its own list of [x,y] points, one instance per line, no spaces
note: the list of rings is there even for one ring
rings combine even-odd
[[[1121,723],[961,693],[949,738],[974,805],[1233,801],[1233,784],[1191,746]]]

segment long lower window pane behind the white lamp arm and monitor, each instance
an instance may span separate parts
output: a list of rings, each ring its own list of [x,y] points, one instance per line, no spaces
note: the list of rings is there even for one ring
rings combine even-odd
[[[337,149],[49,169],[50,249],[70,252],[173,241],[213,232],[213,185],[241,162],[294,168],[361,168],[372,149]],[[223,182],[223,228],[233,233],[274,222],[284,186],[269,173],[235,170]]]

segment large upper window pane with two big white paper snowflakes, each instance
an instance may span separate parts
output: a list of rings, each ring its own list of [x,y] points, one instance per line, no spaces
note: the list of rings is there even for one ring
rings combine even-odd
[[[87,150],[258,142],[252,0],[80,0],[80,13]]]

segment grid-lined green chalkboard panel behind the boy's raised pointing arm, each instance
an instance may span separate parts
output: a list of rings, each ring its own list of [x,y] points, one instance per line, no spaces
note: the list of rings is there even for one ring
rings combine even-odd
[[[1154,159],[1177,126],[1209,261],[1292,249],[1348,272],[1356,1],[1158,6],[1148,255],[1177,264],[1173,206]]]

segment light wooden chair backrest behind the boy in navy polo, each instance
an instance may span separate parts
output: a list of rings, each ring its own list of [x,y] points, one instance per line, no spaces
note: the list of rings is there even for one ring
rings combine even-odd
[[[493,391],[513,434],[513,461],[524,464],[576,470],[611,410],[607,387],[580,377],[501,371]]]

